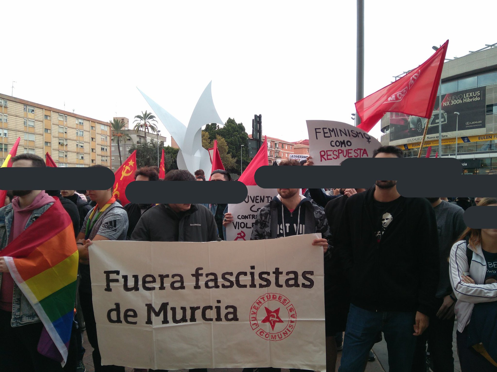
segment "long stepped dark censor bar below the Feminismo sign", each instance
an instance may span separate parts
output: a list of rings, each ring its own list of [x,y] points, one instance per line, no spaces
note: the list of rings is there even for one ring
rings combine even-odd
[[[263,188],[368,188],[377,180],[397,180],[405,197],[497,196],[497,176],[462,174],[455,158],[350,158],[340,166],[264,166],[255,172]]]

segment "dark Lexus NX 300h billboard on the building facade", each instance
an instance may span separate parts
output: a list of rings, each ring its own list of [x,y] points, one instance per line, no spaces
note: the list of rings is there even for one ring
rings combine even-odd
[[[421,141],[428,123],[426,140],[438,140],[438,125],[442,126],[442,139],[456,136],[485,134],[486,88],[472,88],[442,95],[442,110],[438,109],[439,97],[429,120],[416,116],[390,113],[390,144],[402,145]],[[457,121],[457,114],[459,120]]]

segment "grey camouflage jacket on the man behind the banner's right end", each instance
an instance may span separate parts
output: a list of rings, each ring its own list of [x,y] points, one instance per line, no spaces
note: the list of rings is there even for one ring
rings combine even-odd
[[[260,208],[253,224],[250,240],[276,239],[278,236],[283,235],[283,231],[286,231],[286,229],[282,230],[285,226],[281,225],[291,223],[294,225],[294,228],[289,229],[289,232],[285,233],[285,236],[295,235],[295,230],[298,230],[297,235],[300,235],[301,231],[305,234],[321,233],[322,237],[330,242],[330,226],[328,225],[328,220],[323,209],[311,199],[302,195],[300,198],[300,203],[293,212],[293,215],[296,215],[297,218],[296,224],[293,223],[295,216],[292,216],[292,219],[289,220],[288,214],[290,212],[281,202],[279,195],[275,196],[269,204]],[[278,221],[284,221],[284,223],[278,223]],[[304,221],[304,228],[297,228],[302,221]],[[278,234],[278,232],[281,234]],[[330,246],[325,257],[329,253]]]

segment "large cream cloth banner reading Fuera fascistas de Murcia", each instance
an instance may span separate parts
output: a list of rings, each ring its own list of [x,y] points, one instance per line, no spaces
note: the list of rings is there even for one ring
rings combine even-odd
[[[102,365],[326,370],[320,234],[246,242],[94,241]]]

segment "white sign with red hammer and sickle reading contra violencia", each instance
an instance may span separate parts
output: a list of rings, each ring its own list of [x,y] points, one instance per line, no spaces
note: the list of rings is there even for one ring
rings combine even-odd
[[[243,203],[228,204],[233,222],[226,227],[227,240],[250,240],[257,212],[278,194],[275,188],[247,186],[247,190],[247,198]]]

